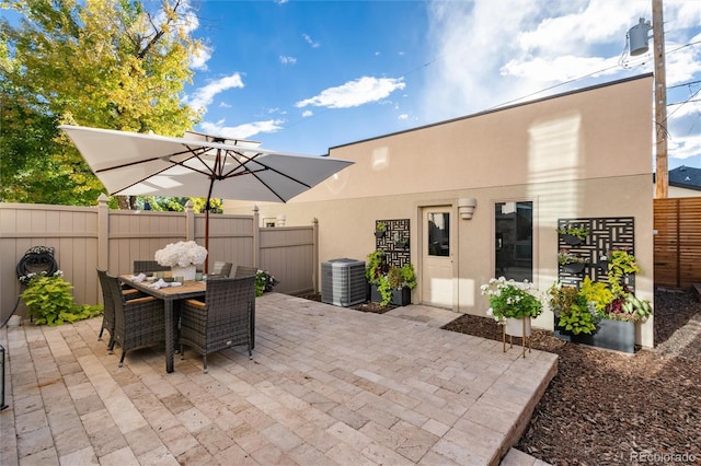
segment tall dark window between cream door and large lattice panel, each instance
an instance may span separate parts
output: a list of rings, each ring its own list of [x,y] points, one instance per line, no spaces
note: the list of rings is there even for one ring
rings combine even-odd
[[[494,205],[495,276],[533,280],[533,202]]]

